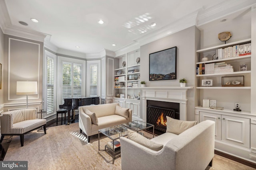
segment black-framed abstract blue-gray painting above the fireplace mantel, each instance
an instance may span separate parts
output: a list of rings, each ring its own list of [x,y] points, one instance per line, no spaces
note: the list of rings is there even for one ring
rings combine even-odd
[[[176,80],[177,47],[149,54],[149,81]]]

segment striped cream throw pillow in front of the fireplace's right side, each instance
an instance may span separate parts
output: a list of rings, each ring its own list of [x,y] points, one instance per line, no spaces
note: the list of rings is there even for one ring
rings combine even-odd
[[[179,135],[180,133],[186,131],[190,127],[196,125],[197,121],[182,121],[177,119],[172,119],[166,116],[166,132],[174,133]]]

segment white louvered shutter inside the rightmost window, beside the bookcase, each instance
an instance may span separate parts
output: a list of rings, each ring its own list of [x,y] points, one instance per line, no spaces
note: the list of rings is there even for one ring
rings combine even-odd
[[[90,96],[98,96],[98,64],[90,64]]]

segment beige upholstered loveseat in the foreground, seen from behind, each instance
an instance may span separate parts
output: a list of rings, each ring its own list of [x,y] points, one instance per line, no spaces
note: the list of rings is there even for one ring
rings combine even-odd
[[[206,120],[179,135],[166,132],[150,140],[163,144],[158,151],[120,137],[122,170],[205,170],[214,157],[214,127]]]

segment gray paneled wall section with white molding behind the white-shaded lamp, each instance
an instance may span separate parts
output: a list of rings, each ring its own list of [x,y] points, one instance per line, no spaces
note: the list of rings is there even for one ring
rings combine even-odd
[[[17,81],[37,81],[38,94],[28,95],[28,107],[42,108],[44,43],[4,35],[4,111],[26,108],[26,96],[16,95]]]

